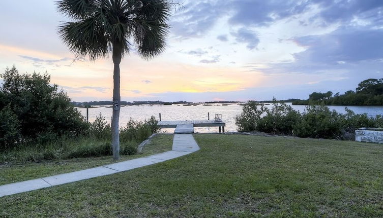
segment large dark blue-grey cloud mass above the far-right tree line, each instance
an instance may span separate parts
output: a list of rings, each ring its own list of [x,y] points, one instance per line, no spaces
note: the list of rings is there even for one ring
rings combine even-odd
[[[297,80],[319,77],[308,81],[310,85],[322,86],[317,87],[318,90],[311,88],[311,92],[337,91],[342,87],[348,87],[348,90],[365,79],[383,77],[383,29],[345,26],[327,34],[294,38],[293,41],[306,48],[294,53],[293,61],[269,63],[263,68],[254,64],[249,69],[262,71],[271,78],[283,78],[288,74]],[[329,81],[338,86],[330,88]]]

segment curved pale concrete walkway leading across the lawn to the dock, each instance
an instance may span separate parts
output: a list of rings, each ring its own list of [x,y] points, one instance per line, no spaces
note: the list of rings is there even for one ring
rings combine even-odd
[[[178,158],[184,155],[191,154],[198,150],[198,144],[194,140],[192,134],[174,134],[173,147],[171,151],[143,158],[108,164],[105,166],[3,185],[0,186],[0,197],[37,189],[43,189],[51,186],[62,185],[66,183],[73,183],[74,181],[79,181],[83,179],[123,172],[138,167],[148,166],[171,160],[174,158]]]

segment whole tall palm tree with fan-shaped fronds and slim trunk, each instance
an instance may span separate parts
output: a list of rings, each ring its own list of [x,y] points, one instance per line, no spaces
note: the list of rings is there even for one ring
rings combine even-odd
[[[120,158],[120,62],[132,46],[144,59],[150,59],[164,50],[170,16],[169,0],[62,0],[61,11],[73,22],[64,22],[58,34],[78,57],[90,60],[112,53],[113,159]]]

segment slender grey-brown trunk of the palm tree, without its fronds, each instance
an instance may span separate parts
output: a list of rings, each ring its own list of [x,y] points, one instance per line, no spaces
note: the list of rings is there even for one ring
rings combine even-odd
[[[113,159],[120,159],[120,62],[122,57],[122,46],[119,43],[113,43],[112,59],[113,69],[113,114],[112,114],[112,150]]]

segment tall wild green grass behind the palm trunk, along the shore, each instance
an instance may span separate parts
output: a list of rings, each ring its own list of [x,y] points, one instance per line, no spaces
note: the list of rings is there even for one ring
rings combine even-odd
[[[130,120],[121,128],[120,154],[136,154],[138,144],[158,132],[157,122],[154,117],[145,121]],[[0,163],[109,156],[112,155],[110,139],[110,125],[100,114],[80,136],[63,135],[60,139],[54,139],[50,133],[43,134],[39,140],[23,142],[15,148],[0,152]]]

